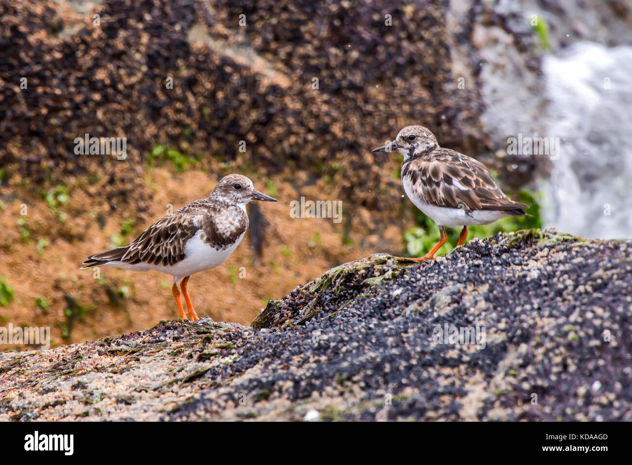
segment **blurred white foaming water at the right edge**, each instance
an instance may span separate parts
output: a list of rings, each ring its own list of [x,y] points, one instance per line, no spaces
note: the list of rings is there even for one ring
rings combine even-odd
[[[580,42],[546,56],[543,71],[547,135],[561,138],[544,187],[544,226],[632,238],[632,47]]]

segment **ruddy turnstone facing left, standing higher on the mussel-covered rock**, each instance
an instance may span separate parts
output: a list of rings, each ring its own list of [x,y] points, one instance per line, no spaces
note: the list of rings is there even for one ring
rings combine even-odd
[[[432,260],[446,243],[446,226],[463,226],[457,246],[468,236],[468,226],[489,224],[508,216],[525,216],[528,205],[514,202],[496,185],[481,162],[439,147],[423,126],[406,126],[395,140],[374,152],[399,150],[404,155],[401,182],[408,198],[439,226],[441,238],[425,256]]]

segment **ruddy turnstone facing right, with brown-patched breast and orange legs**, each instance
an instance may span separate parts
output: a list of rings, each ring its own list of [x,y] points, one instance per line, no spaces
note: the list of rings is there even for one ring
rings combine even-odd
[[[276,202],[256,191],[252,181],[241,174],[220,179],[207,198],[157,220],[128,245],[96,255],[83,262],[82,269],[117,267],[147,272],[157,270],[173,276],[173,293],[180,317],[199,320],[193,310],[186,284],[193,273],[215,268],[239,245],[248,228],[246,203],[250,200]],[[182,308],[178,283],[188,313]]]

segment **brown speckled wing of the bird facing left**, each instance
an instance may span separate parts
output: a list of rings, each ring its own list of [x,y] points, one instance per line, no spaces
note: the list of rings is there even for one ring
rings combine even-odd
[[[401,178],[410,183],[413,193],[437,207],[466,210],[528,208],[528,205],[507,197],[482,163],[449,148],[438,148],[430,155],[404,163]]]

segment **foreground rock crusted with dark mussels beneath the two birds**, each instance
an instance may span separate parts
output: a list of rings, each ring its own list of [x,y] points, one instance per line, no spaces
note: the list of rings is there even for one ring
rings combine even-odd
[[[270,301],[260,329],[2,353],[0,420],[629,421],[631,247],[530,230],[372,255]],[[437,339],[452,327],[484,339]]]

